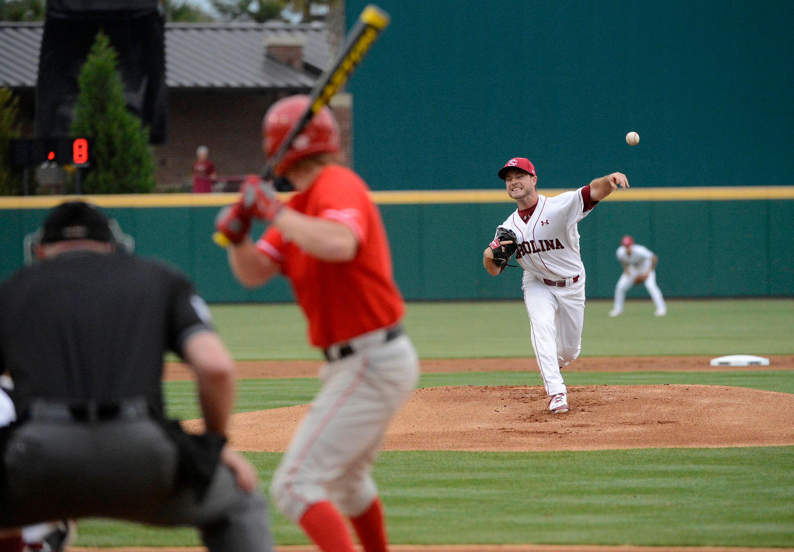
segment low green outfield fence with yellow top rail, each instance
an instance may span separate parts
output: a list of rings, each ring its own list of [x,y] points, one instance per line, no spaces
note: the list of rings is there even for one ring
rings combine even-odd
[[[545,191],[554,195],[560,191]],[[515,203],[501,191],[383,192],[380,203],[406,299],[517,299],[521,270],[492,277],[483,249]],[[94,196],[135,237],[137,253],[191,276],[210,302],[287,301],[277,279],[256,291],[231,276],[225,251],[210,241],[218,207],[234,195]],[[21,267],[22,239],[59,198],[0,198],[0,277]],[[261,227],[260,227],[261,228]],[[256,229],[258,232],[259,229]],[[579,223],[590,298],[611,297],[623,234],[659,257],[657,281],[669,297],[794,295],[794,187],[689,188],[615,192]],[[630,291],[646,295],[642,287]]]

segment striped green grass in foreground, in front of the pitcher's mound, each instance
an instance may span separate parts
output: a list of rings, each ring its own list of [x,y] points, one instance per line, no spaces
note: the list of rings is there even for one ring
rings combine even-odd
[[[246,453],[267,488],[280,454]],[[384,452],[391,542],[794,546],[794,447]],[[272,511],[278,544],[306,539]],[[195,531],[80,523],[77,546],[195,546]]]

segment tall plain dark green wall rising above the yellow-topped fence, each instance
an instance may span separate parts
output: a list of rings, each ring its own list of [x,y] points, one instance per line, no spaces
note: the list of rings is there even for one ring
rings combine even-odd
[[[347,0],[349,26],[369,0]],[[378,0],[349,83],[375,190],[782,185],[794,172],[791,0]],[[636,131],[640,143],[626,145]]]

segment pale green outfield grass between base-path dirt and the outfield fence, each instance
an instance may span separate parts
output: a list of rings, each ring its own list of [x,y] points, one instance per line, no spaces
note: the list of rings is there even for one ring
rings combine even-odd
[[[615,280],[619,266],[615,265]],[[216,326],[237,360],[319,359],[293,304],[213,305]],[[629,301],[584,309],[582,354],[592,357],[794,354],[794,299],[672,300],[668,315]],[[524,303],[408,303],[405,324],[422,358],[527,357],[533,354]]]

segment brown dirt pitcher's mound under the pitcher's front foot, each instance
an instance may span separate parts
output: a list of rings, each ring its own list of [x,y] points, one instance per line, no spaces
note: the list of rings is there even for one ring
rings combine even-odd
[[[584,385],[552,414],[540,387],[419,389],[384,450],[598,450],[794,445],[794,395],[715,385]],[[309,405],[233,416],[237,450],[287,449]],[[201,420],[185,423],[201,430]]]

